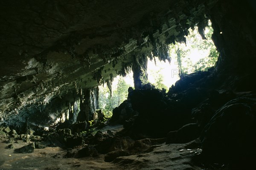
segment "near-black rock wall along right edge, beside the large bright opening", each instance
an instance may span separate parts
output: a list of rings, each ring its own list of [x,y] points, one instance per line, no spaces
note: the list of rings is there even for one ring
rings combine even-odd
[[[256,27],[255,3],[252,1],[219,1],[207,12],[214,29],[212,40],[220,57],[216,67],[219,82],[230,89],[254,89]]]

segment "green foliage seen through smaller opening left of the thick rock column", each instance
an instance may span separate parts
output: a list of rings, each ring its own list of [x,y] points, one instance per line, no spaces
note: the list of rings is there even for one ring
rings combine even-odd
[[[129,84],[122,77],[119,77],[116,87],[112,86],[112,97],[107,86],[99,87],[99,108],[106,118],[110,118],[112,110],[127,99],[128,88]]]

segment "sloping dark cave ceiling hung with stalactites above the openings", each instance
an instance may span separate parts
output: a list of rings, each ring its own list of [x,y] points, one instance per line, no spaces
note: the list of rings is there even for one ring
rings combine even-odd
[[[125,75],[207,24],[218,0],[1,0],[0,114]],[[8,115],[7,114],[7,115]]]

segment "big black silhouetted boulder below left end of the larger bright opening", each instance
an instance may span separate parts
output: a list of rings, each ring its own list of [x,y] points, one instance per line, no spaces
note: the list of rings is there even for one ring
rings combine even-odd
[[[139,113],[132,124],[131,135],[163,138],[169,131],[192,123],[191,108],[180,105],[180,101],[158,89],[136,89],[129,93],[129,98],[132,108]]]

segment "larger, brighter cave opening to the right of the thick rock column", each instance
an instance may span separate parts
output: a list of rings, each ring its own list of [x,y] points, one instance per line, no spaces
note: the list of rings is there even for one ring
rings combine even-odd
[[[198,27],[190,28],[186,42],[169,45],[171,62],[148,60],[148,82],[158,89],[169,89],[181,77],[198,71],[214,69],[219,52],[212,41],[213,29],[211,21],[204,30],[204,36],[199,34]]]

